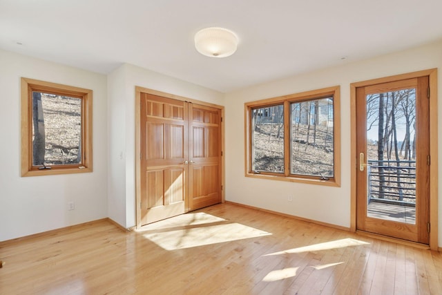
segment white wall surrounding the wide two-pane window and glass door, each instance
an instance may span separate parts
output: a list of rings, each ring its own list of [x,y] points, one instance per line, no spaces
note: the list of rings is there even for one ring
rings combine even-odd
[[[319,220],[350,225],[350,83],[416,70],[439,68],[439,131],[442,131],[442,41],[365,61],[317,70],[228,93],[226,102],[226,200]],[[244,177],[244,102],[340,85],[341,187],[323,187]],[[442,135],[439,183],[442,183]],[[439,246],[442,245],[442,185],[439,185]],[[293,195],[292,202],[287,201]]]

